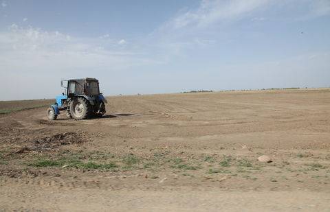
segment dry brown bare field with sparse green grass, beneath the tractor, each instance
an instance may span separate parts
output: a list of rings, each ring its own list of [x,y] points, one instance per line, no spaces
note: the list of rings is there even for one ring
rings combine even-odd
[[[107,99],[0,115],[0,211],[330,211],[330,89]]]

